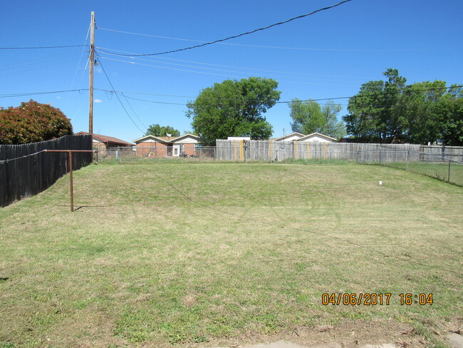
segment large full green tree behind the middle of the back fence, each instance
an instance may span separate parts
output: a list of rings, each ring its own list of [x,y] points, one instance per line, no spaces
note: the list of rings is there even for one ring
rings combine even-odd
[[[259,77],[214,83],[187,103],[187,117],[192,118],[193,130],[205,145],[229,136],[268,139],[273,128],[261,114],[279,100],[277,87],[275,80]]]

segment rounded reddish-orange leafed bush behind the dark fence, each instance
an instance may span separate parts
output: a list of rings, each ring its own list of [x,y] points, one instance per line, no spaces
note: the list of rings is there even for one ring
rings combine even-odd
[[[33,101],[0,108],[0,144],[25,144],[73,134],[71,120],[50,104]]]

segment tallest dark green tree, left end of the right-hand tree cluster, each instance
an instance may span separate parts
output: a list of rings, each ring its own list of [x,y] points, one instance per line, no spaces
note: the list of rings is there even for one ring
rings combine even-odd
[[[401,103],[407,80],[397,69],[388,68],[383,75],[387,81],[363,83],[349,99],[349,114],[343,117],[348,133],[370,142],[395,142],[408,128]]]

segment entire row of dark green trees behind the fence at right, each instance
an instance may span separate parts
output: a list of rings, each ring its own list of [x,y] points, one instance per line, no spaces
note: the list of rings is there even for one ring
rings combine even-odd
[[[462,88],[445,81],[406,85],[397,69],[363,83],[343,117],[348,133],[368,142],[463,145]]]

